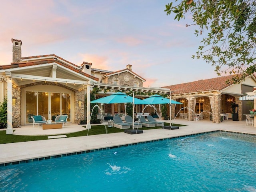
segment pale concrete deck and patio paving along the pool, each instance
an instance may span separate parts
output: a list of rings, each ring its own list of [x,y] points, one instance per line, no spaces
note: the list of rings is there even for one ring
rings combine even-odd
[[[72,138],[55,138],[49,140],[0,144],[0,164],[3,165],[9,162],[26,161],[34,158],[61,156],[62,154],[72,154],[100,148],[110,148],[113,146],[122,146],[132,143],[146,142],[150,140],[159,140],[217,130],[256,135],[256,128],[253,126],[245,126],[245,121],[224,120],[220,124],[213,124],[209,120],[188,121],[184,119],[176,119],[174,123],[184,124],[187,126],[182,126],[176,130],[144,130],[143,134],[131,135],[122,132],[114,134],[101,134]],[[51,135],[65,134],[69,131],[68,127],[72,127],[72,132],[74,132],[74,129],[76,131],[84,130],[84,128],[80,125],[70,124],[66,127],[65,131],[63,131],[64,129],[54,129],[49,131],[52,132],[50,133]],[[22,129],[24,134],[28,134],[28,132],[30,132],[30,134],[40,134],[41,132],[41,129],[34,129],[33,132],[31,127],[24,126],[24,128],[17,128],[15,131],[16,134],[19,132],[22,134]],[[57,131],[57,133],[54,131]],[[58,133],[58,131],[62,133]]]

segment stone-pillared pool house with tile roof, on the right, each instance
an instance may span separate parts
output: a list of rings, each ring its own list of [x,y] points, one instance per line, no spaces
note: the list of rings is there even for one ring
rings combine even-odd
[[[252,92],[256,78],[247,76],[239,84],[227,83],[232,76],[198,80],[194,82],[164,86],[172,91],[172,98],[184,103],[184,106],[172,108],[172,118],[179,113],[188,114],[188,120],[194,120],[194,114],[203,113],[205,118],[212,116],[214,123],[220,123],[220,116],[232,118],[232,103],[238,104],[238,120],[245,120],[250,106],[246,100],[239,100],[246,92]],[[184,108],[185,107],[185,108]],[[179,114],[178,114],[179,115]]]

